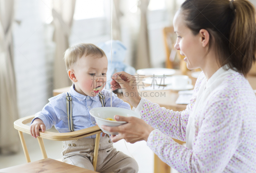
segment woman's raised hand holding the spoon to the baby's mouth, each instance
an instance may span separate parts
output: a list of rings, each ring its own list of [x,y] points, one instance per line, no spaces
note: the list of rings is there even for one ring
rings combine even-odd
[[[120,73],[122,74],[119,76]],[[137,108],[141,97],[137,90],[135,76],[121,71],[113,74],[112,79],[113,80],[110,82],[110,88],[112,88],[112,90],[121,88],[125,99],[130,102],[133,107]]]

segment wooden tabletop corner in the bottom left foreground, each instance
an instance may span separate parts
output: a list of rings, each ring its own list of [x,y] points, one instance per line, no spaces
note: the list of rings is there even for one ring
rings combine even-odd
[[[9,168],[0,169],[0,172],[5,173],[97,173],[95,171],[80,168],[68,163],[60,162],[50,158],[29,162],[22,165],[12,166]]]

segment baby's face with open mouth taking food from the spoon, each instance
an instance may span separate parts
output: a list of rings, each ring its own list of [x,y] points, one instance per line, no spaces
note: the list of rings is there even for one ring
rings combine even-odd
[[[97,56],[81,57],[74,69],[77,79],[75,90],[83,95],[96,96],[106,84],[98,91],[93,89],[107,81],[107,70],[108,59],[106,56],[101,58]]]

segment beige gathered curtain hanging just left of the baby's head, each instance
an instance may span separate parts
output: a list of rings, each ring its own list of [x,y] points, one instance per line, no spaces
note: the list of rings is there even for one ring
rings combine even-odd
[[[68,38],[71,33],[76,0],[52,0],[52,2],[53,41],[56,43],[53,85],[54,88],[62,88],[72,84],[63,58],[65,50],[69,47]]]

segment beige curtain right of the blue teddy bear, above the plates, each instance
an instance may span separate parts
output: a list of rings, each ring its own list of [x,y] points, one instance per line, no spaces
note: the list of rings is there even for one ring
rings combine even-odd
[[[140,8],[140,30],[137,41],[136,69],[150,68],[149,40],[148,40],[148,24],[147,11],[149,0],[140,0],[138,7]]]

